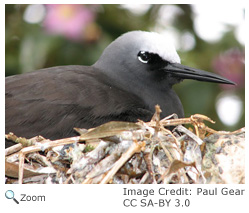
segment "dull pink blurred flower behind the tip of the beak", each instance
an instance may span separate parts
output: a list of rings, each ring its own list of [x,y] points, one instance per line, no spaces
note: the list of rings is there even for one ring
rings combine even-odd
[[[219,75],[232,80],[237,88],[245,86],[245,55],[238,49],[230,49],[213,60],[213,69]],[[222,88],[233,88],[222,84]]]

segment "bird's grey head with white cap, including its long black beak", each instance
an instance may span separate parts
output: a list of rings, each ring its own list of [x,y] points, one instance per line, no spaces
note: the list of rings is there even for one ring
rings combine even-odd
[[[113,41],[93,65],[115,79],[157,83],[171,87],[183,79],[234,84],[214,73],[181,65],[175,47],[167,37],[154,32],[131,31]]]

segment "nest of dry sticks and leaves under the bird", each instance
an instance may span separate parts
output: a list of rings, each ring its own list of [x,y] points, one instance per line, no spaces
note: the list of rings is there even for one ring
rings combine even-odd
[[[215,131],[207,116],[160,120],[160,112],[156,106],[150,122],[75,128],[80,136],[54,141],[9,133],[18,144],[5,150],[6,183],[244,183],[245,128]]]

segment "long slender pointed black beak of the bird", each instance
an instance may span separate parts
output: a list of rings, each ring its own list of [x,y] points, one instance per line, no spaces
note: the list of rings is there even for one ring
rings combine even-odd
[[[164,68],[164,71],[182,79],[194,79],[198,81],[236,85],[234,82],[214,73],[184,66],[178,63],[167,64],[167,66]]]

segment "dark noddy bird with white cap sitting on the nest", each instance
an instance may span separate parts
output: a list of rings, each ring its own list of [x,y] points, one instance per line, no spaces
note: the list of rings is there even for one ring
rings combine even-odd
[[[5,79],[5,132],[60,139],[73,128],[108,121],[184,117],[172,86],[183,79],[234,84],[214,73],[181,65],[172,43],[154,32],[132,31],[113,41],[92,66],[58,66]],[[6,147],[12,145],[6,142]]]

